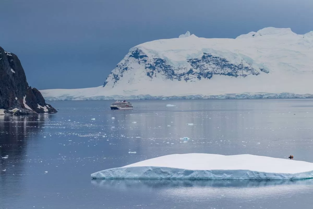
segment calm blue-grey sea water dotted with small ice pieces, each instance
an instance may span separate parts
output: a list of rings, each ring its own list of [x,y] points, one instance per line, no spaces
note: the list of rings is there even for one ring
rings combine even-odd
[[[313,180],[90,174],[175,153],[293,154],[313,162],[313,100],[131,101],[135,109],[127,111],[111,111],[111,102],[51,102],[58,113],[0,116],[0,155],[9,156],[0,159],[0,208],[312,208]]]

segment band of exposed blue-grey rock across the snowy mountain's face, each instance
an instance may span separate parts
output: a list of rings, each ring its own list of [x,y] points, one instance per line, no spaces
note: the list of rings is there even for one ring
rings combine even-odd
[[[203,53],[201,58],[192,58],[187,59],[187,62],[190,64],[190,69],[183,69],[182,73],[179,72],[180,69],[175,68],[174,66],[167,63],[166,60],[159,57],[149,58],[142,50],[135,49],[131,51],[125,61],[119,63],[115,70],[111,72],[108,78],[112,77],[114,84],[123,77],[123,74],[128,71],[129,64],[134,62],[134,60],[139,65],[144,65],[146,70],[146,75],[151,79],[157,77],[157,74],[164,75],[166,79],[169,80],[178,80],[178,81],[188,81],[191,79],[211,79],[213,75],[224,75],[232,77],[246,77],[248,75],[259,75],[260,73],[269,73],[269,71],[259,68],[255,69],[249,66],[248,63],[234,64],[231,61],[213,56],[208,53]],[[134,60],[133,60],[134,59]],[[103,84],[103,87],[109,82],[107,80]]]

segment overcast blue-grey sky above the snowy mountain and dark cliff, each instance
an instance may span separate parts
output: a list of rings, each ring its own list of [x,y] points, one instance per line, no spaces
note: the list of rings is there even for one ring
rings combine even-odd
[[[138,44],[236,38],[264,27],[313,30],[312,0],[1,0],[0,46],[41,89],[101,86]]]

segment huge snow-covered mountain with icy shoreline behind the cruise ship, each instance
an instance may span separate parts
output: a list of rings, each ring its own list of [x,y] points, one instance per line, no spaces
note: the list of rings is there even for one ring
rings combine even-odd
[[[42,90],[47,100],[312,97],[313,31],[264,28],[235,39],[139,44],[103,86]]]

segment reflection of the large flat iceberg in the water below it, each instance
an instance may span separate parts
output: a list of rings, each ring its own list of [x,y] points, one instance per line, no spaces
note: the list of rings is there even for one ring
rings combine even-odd
[[[277,193],[306,191],[313,187],[313,180],[91,180],[91,183],[103,189],[117,191],[162,190],[170,196],[220,194],[240,196],[270,196]],[[214,192],[213,192],[214,191]]]

